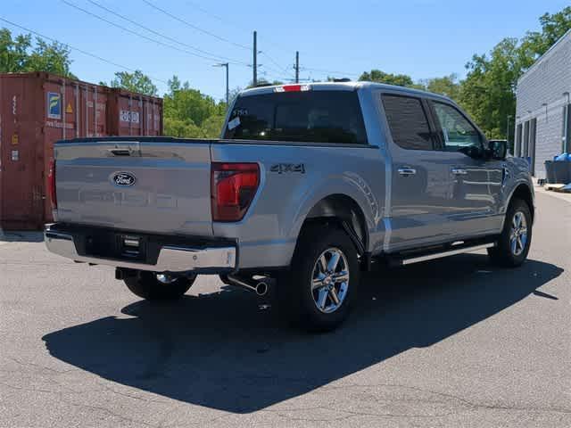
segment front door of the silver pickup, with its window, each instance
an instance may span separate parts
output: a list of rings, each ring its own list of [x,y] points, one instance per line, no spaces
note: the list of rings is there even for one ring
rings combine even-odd
[[[451,103],[429,101],[439,135],[441,161],[450,176],[447,224],[454,237],[497,232],[490,218],[501,196],[502,162],[474,156],[482,153],[485,138]]]

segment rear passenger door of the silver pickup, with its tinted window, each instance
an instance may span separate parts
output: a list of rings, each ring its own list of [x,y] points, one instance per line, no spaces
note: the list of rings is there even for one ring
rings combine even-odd
[[[382,94],[392,158],[389,252],[448,239],[450,171],[436,150],[429,106],[414,95]]]

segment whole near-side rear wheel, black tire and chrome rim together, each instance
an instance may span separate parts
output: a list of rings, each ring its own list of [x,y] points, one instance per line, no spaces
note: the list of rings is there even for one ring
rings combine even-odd
[[[277,287],[294,325],[324,332],[349,315],[359,281],[358,254],[349,236],[336,227],[309,226]]]

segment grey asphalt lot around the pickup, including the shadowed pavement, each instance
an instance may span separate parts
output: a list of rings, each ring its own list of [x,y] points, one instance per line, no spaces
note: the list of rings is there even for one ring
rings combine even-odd
[[[112,268],[0,241],[0,426],[571,426],[571,200],[522,268],[484,253],[365,277],[342,329],[202,277],[150,305]]]

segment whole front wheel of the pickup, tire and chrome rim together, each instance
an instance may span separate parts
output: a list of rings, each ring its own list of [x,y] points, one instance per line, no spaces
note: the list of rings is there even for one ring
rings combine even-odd
[[[514,200],[509,204],[500,238],[488,254],[495,265],[517,268],[527,258],[531,243],[531,211],[524,201]]]

